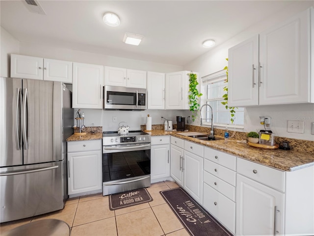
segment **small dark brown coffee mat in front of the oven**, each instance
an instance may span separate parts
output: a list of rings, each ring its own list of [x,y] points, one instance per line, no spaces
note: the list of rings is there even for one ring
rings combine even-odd
[[[109,209],[118,210],[153,201],[146,188],[109,195]]]

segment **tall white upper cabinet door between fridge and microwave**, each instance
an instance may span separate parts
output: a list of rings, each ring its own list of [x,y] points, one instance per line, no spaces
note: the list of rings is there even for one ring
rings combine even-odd
[[[103,66],[73,63],[73,108],[103,108]]]

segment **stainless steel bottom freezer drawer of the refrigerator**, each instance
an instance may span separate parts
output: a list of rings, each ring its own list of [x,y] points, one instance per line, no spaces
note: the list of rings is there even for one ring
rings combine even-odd
[[[1,223],[63,209],[62,161],[0,169]]]

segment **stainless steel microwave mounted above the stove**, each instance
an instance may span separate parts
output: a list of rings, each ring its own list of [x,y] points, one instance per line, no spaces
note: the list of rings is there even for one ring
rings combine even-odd
[[[146,110],[146,89],[104,86],[104,109]]]

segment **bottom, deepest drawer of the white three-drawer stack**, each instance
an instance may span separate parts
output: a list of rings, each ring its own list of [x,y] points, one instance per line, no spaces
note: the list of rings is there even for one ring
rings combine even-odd
[[[235,234],[235,202],[204,183],[203,206]]]

